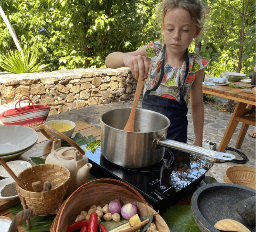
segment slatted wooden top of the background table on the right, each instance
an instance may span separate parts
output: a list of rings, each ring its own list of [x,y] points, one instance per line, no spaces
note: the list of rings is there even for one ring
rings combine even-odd
[[[240,82],[234,82],[234,84],[240,84]],[[251,84],[243,83],[242,85],[251,89],[255,87],[255,85]],[[228,85],[203,84],[203,93],[256,106],[256,96],[253,93],[242,92],[241,88],[229,87]]]

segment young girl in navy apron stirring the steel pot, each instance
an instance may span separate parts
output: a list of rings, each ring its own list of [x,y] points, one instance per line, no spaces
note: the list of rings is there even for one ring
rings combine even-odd
[[[164,0],[160,7],[163,43],[152,42],[128,53],[111,53],[105,64],[109,68],[129,67],[137,80],[146,79],[142,107],[170,119],[168,139],[187,142],[190,97],[195,132],[193,144],[202,146],[202,81],[208,61],[189,53],[188,47],[201,32],[206,10],[200,0]]]

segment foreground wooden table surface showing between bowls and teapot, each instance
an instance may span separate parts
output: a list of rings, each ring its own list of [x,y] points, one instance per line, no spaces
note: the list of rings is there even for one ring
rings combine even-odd
[[[86,136],[86,137],[93,135],[96,137],[96,140],[100,140],[100,137],[101,137],[100,128],[97,128],[95,126],[92,126],[82,121],[76,122],[76,128],[74,130],[72,137],[78,132],[80,132],[82,136]],[[28,161],[32,165],[35,165],[30,157],[41,157],[43,159],[46,159],[47,155],[49,154],[48,151],[50,151],[51,149],[52,149],[52,144],[48,140],[48,138],[46,138],[41,132],[38,132],[38,141],[36,145],[30,150],[28,150],[27,152],[24,152],[19,158],[17,158],[17,160]],[[2,177],[0,177],[0,179],[2,179]],[[5,201],[0,199],[0,216],[5,216],[13,219],[14,217],[10,213],[9,208],[19,203],[20,203],[19,198],[11,201]],[[18,230],[19,232],[26,231],[22,225],[18,226]]]

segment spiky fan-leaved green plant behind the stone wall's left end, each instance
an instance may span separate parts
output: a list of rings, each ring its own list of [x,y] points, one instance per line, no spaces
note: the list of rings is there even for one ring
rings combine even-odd
[[[34,52],[30,54],[29,50],[19,52],[18,50],[10,51],[7,55],[3,55],[0,67],[3,71],[1,74],[18,74],[18,73],[33,73],[43,72],[47,65],[36,63],[37,56]]]

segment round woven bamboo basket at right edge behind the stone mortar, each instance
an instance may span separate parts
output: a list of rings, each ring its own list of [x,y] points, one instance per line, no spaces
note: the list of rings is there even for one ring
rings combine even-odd
[[[239,184],[256,190],[256,168],[249,166],[229,167],[223,180],[226,183]]]

